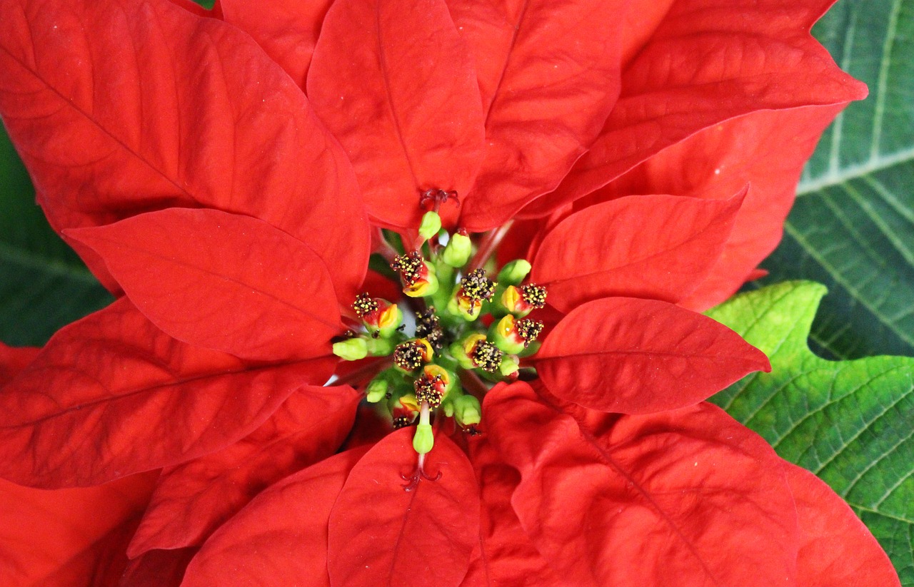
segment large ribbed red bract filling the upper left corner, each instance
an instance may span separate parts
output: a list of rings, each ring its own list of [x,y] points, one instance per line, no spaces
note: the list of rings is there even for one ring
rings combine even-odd
[[[361,282],[367,221],[351,165],[234,26],[165,0],[9,0],[0,69],[0,113],[56,229],[215,207],[303,240],[338,267],[342,297]]]

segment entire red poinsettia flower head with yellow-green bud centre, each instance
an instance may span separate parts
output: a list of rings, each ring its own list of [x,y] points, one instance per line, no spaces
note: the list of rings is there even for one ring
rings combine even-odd
[[[866,94],[828,4],[0,0],[0,114],[117,296],[4,349],[0,475],[122,484],[110,584],[897,584],[702,403],[769,363],[696,310]]]

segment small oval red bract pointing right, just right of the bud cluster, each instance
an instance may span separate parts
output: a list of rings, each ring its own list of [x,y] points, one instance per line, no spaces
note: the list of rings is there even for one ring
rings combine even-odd
[[[696,404],[749,372],[771,371],[764,353],[726,326],[635,298],[598,299],[572,310],[534,359],[551,393],[624,414]]]

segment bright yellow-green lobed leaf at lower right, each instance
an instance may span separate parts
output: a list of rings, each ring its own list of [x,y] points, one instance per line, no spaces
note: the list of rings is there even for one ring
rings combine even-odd
[[[914,359],[816,356],[807,336],[824,294],[791,281],[711,309],[771,359],[771,373],[753,373],[711,401],[845,498],[912,585]]]

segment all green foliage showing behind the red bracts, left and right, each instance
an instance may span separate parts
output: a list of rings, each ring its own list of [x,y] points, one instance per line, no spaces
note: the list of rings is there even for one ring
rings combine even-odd
[[[774,366],[715,401],[847,499],[909,586],[914,359],[828,362],[806,343],[828,359],[914,356],[914,0],[841,0],[813,34],[870,98],[825,132],[763,263],[771,274],[747,289],[779,285],[712,310]],[[0,340],[15,346],[43,344],[112,299],[34,202],[0,129]]]

